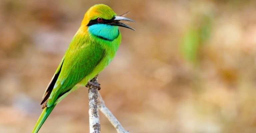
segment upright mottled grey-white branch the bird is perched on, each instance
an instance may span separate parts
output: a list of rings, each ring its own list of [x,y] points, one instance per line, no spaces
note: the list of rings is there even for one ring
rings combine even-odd
[[[90,133],[100,133],[100,118],[98,110],[98,75],[87,84],[89,98],[89,126]],[[99,85],[99,84],[98,84]]]

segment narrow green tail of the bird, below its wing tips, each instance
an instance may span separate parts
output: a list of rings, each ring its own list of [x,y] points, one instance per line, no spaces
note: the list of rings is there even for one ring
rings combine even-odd
[[[49,114],[52,112],[54,107],[55,107],[55,105],[52,105],[50,107],[45,107],[44,108],[43,112],[41,113],[40,117],[38,118],[38,120],[36,122],[36,125],[35,125],[32,133],[37,133],[39,131],[39,129],[44,124],[44,121],[49,116]]]

